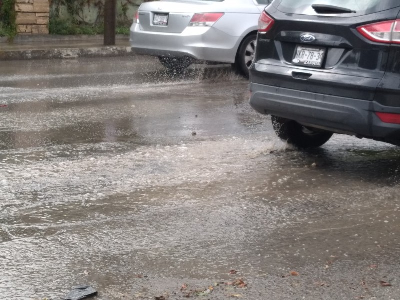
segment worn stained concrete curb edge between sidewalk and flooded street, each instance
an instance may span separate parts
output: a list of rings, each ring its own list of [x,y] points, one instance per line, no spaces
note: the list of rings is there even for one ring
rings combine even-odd
[[[89,47],[0,51],[0,60],[73,59],[79,57],[133,56],[131,47]]]

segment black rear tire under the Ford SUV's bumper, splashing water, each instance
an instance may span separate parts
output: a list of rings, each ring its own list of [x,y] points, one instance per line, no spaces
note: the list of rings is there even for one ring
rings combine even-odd
[[[271,119],[276,135],[299,149],[320,147],[333,135],[332,132],[305,127],[296,121],[279,116],[272,115]]]

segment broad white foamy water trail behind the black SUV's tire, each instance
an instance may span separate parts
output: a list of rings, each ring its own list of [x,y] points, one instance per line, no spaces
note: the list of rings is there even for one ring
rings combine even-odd
[[[0,198],[3,199],[0,207],[31,205],[21,194],[63,202],[157,186],[190,182],[203,185],[227,172],[238,175],[251,159],[272,149],[284,148],[282,143],[276,145],[267,138],[228,138],[176,146],[141,146],[122,153],[78,154],[84,153],[85,147],[90,151],[97,147],[101,152],[104,149],[112,151],[118,146],[120,144],[107,143],[81,145],[79,150],[64,148],[65,155],[72,155],[72,158],[59,158],[62,154],[59,147],[52,147],[50,153],[42,155],[42,160],[30,161],[14,153],[3,160],[0,167],[0,178],[3,178],[0,181]]]

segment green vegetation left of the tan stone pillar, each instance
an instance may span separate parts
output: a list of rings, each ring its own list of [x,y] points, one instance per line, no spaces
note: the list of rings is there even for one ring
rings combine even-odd
[[[12,41],[16,35],[15,0],[0,0],[0,36]]]

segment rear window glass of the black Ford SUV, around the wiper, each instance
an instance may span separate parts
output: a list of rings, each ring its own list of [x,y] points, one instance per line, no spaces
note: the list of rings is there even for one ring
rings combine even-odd
[[[280,2],[280,3],[279,3]],[[278,9],[285,13],[316,15],[312,4],[331,5],[355,10],[355,15],[379,12],[400,6],[398,0],[281,0]],[[354,14],[352,14],[354,15]],[[348,16],[348,14],[347,14]]]

